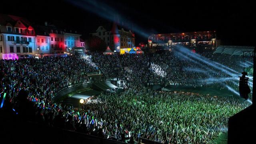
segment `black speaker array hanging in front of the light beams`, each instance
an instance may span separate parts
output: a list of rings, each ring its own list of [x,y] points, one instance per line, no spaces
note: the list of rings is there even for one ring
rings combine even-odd
[[[239,76],[239,94],[241,98],[244,98],[245,100],[248,99],[248,94],[250,94],[251,90],[248,86],[248,80],[249,78],[246,77],[247,72],[242,72],[242,76]]]

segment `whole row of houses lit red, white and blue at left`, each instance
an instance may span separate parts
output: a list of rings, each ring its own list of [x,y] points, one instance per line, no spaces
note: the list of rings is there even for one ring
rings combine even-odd
[[[32,26],[26,18],[0,14],[0,59],[70,52],[81,46],[80,36],[47,22],[44,26]],[[84,41],[81,47],[85,47]]]

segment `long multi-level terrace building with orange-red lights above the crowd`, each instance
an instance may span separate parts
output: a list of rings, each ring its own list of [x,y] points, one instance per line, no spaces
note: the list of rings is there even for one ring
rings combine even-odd
[[[216,31],[152,34],[148,37],[148,48],[155,50],[171,50],[179,45],[196,51],[214,50],[218,43]]]

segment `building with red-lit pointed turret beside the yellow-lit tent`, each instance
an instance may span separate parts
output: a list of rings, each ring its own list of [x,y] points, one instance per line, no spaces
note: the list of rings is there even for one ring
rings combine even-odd
[[[110,49],[120,54],[128,53],[135,46],[135,35],[130,30],[118,28],[114,23],[112,28],[99,26],[91,36],[97,36],[102,39]]]

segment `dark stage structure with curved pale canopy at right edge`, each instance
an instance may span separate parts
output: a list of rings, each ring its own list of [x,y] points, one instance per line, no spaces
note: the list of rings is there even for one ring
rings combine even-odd
[[[228,118],[228,144],[249,144],[256,134],[256,49],[254,46],[219,46],[214,53],[253,58],[252,105]]]

